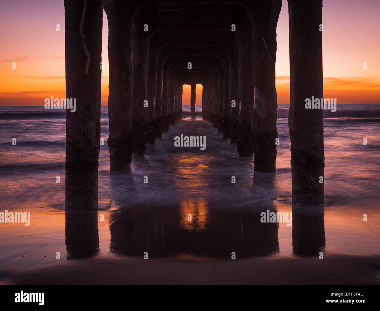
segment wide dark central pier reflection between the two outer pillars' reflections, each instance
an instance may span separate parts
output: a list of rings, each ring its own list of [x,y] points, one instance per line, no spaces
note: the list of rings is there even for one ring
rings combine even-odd
[[[184,225],[190,223],[188,213],[184,212],[187,205],[185,201],[180,207],[119,210],[121,215],[115,215],[110,226],[111,253],[230,258],[231,252],[235,252],[242,258],[270,256],[279,249],[277,224],[261,223],[260,213],[209,209],[207,216],[195,214],[196,222]],[[205,204],[200,206],[207,211]]]

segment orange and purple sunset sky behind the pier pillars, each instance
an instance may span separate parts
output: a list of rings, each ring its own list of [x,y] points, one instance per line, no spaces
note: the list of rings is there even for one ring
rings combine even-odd
[[[380,103],[379,0],[323,2],[324,97],[337,103]],[[56,25],[60,24],[60,32]],[[65,97],[63,0],[14,0],[0,11],[0,106],[44,105]],[[108,102],[108,22],[103,11],[101,102]],[[16,69],[12,63],[16,62]],[[279,104],[290,102],[288,4],[277,25],[276,88]],[[366,70],[363,62],[367,63]],[[312,73],[310,73],[312,74]],[[190,103],[184,92],[184,104]],[[201,87],[197,87],[197,97]]]

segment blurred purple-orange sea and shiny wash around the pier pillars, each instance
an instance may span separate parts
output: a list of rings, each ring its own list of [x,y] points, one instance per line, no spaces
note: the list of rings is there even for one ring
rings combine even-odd
[[[116,216],[123,215],[123,211],[135,211],[133,215],[140,215],[141,210],[149,210],[150,215],[161,211],[160,217],[166,219],[163,221],[178,222],[183,230],[206,234],[208,228],[218,232],[217,221],[223,218],[228,222],[234,215],[239,234],[243,234],[251,225],[243,220],[240,223],[239,219],[250,219],[244,215],[259,213],[266,206],[291,211],[288,105],[279,105],[280,145],[271,187],[260,182],[266,174],[254,174],[252,157],[239,158],[236,145],[202,119],[201,105],[196,108],[198,113],[192,117],[190,106],[184,106],[184,118],[163,133],[155,145],[148,144],[144,158],[133,159],[131,174],[110,176],[106,143],[108,107],[101,107],[101,137],[105,145],[100,148],[98,202],[108,220],[99,223],[102,253],[109,253],[112,232],[108,228],[112,231],[112,226],[123,227],[117,225]],[[21,254],[37,256],[41,251],[53,256],[53,249],[57,248],[65,256],[65,114],[44,107],[0,107],[0,212],[30,211],[34,221],[29,227],[0,224],[3,242],[0,266],[7,260],[24,266]],[[341,104],[336,112],[326,114],[323,229],[326,251],[379,254],[380,105]],[[174,147],[174,137],[180,134],[206,136],[206,150]],[[12,145],[13,138],[17,139],[16,146]],[[366,146],[363,138],[367,139]],[[56,183],[57,176],[60,183]],[[142,182],[144,176],[149,178],[147,184]],[[231,183],[231,176],[236,177],[236,184]],[[173,215],[177,218],[171,218],[171,208],[176,209]],[[189,213],[196,215],[192,225],[182,217]],[[369,221],[363,221],[363,214],[368,215]],[[141,218],[143,223],[144,216]],[[124,219],[125,226],[128,219]],[[112,221],[115,224],[108,227]],[[237,230],[235,225],[231,226],[231,230]],[[276,237],[277,244],[266,254],[291,255],[291,227],[280,224]],[[115,243],[112,240],[114,249]],[[186,247],[180,249],[180,253],[186,253]],[[46,262],[49,255],[47,258],[39,255],[41,258],[35,262]]]

